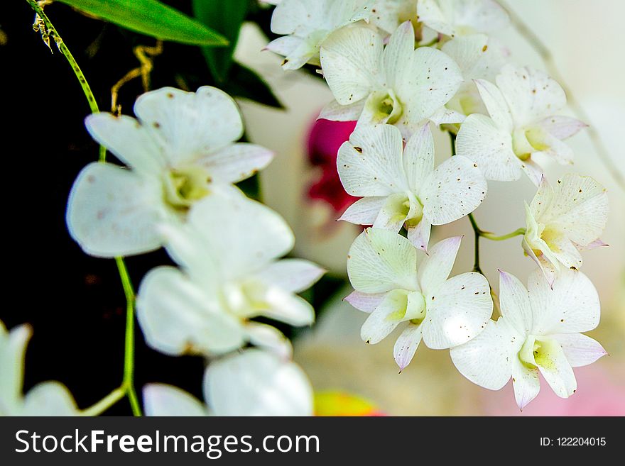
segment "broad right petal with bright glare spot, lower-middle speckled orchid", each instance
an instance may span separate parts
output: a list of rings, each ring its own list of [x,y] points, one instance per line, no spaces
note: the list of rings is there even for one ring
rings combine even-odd
[[[426,295],[423,343],[444,350],[479,335],[493,312],[490,291],[484,275],[467,272],[448,279],[435,294]]]

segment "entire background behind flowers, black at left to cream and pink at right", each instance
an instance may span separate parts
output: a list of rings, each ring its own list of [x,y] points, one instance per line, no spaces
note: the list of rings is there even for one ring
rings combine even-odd
[[[170,2],[189,11],[188,2]],[[549,177],[564,172],[589,174],[607,187],[611,217],[602,239],[608,248],[584,254],[583,272],[596,285],[602,300],[602,322],[589,333],[610,353],[590,367],[577,369],[578,390],[571,399],[558,399],[543,381],[538,398],[526,415],[625,414],[625,153],[621,126],[625,118],[625,4],[617,0],[508,1],[511,9],[553,54],[570,93],[583,106],[589,121],[607,146],[612,168],[594,150],[587,133],[568,142],[575,165],[545,167]],[[185,10],[186,8],[186,10]],[[135,45],[154,40],[87,18],[69,7],[46,8],[50,19],[85,71],[100,108],[108,110],[110,89],[138,65]],[[398,375],[393,361],[393,338],[365,345],[359,337],[365,314],[344,303],[351,289],[345,281],[347,250],[359,228],[335,218],[352,201],[337,185],[332,151],[349,136],[351,123],[316,123],[318,111],[332,99],[330,91],[310,70],[283,72],[281,58],[261,49],[267,43],[270,10],[249,10],[235,51],[237,62],[258,73],[273,94],[237,75],[229,79],[231,94],[239,96],[246,120],[246,138],[277,153],[259,179],[244,187],[259,195],[287,219],[297,243],[293,255],[315,260],[330,270],[328,277],[305,297],[317,308],[317,324],[290,333],[295,360],[308,373],[318,392],[337,391],[361,396],[374,411],[388,415],[521,415],[511,385],[489,392],[462,377],[446,351],[421,345],[410,366]],[[53,55],[33,33],[33,13],[26,2],[0,6],[0,85],[5,91],[0,135],[4,173],[10,196],[5,205],[8,247],[4,252],[11,303],[0,309],[0,320],[11,328],[31,323],[26,389],[58,379],[67,384],[79,406],[86,407],[110,392],[121,380],[124,338],[124,296],[113,261],[82,254],[65,229],[67,194],[77,172],[97,157],[97,146],[82,124],[89,109],[75,77],[55,50]],[[522,65],[545,69],[541,58],[516,30],[495,34]],[[152,87],[164,85],[195,90],[217,84],[198,48],[165,43],[153,60]],[[239,73],[240,74],[240,73]],[[237,78],[237,79],[235,79]],[[261,105],[245,99],[264,92]],[[141,83],[121,91],[123,113],[131,113]],[[268,92],[268,94],[267,94]],[[248,94],[248,95],[246,95]],[[13,97],[13,99],[10,99]],[[276,109],[278,101],[286,109]],[[449,138],[436,135],[437,158],[450,155]],[[260,187],[260,189],[258,189]],[[524,226],[523,201],[536,189],[525,177],[514,183],[489,183],[489,194],[475,216],[479,225],[496,233]],[[435,228],[433,241],[465,235],[452,274],[472,268],[472,230],[466,218]],[[523,281],[533,270],[523,257],[520,238],[504,242],[482,240],[482,270],[497,291],[497,268]],[[168,263],[158,252],[128,260],[135,285],[147,270]],[[289,331],[288,328],[284,329]],[[392,336],[392,335],[391,335]],[[146,347],[138,331],[136,382],[165,382],[201,396],[203,361],[198,357],[166,357]],[[109,414],[129,414],[122,401]]]

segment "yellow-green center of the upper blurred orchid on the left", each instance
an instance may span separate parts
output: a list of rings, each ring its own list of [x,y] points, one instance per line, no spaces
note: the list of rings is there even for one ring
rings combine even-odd
[[[187,210],[209,194],[210,176],[200,167],[170,170],[164,179],[165,201],[177,210]]]

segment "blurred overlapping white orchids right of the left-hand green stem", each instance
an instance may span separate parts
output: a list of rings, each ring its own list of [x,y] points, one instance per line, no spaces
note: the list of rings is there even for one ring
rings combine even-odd
[[[148,345],[210,359],[207,407],[180,389],[148,386],[148,414],[312,414],[312,391],[290,361],[290,342],[259,316],[292,326],[314,320],[300,296],[323,274],[281,259],[295,238],[286,222],[234,183],[273,154],[237,143],[243,122],[214,87],[140,96],[137,119],[97,113],[89,133],[126,167],[94,162],[78,175],[67,226],[86,253],[119,257],[165,247],[179,267],[156,267],[136,299]],[[234,351],[251,344],[261,349]]]

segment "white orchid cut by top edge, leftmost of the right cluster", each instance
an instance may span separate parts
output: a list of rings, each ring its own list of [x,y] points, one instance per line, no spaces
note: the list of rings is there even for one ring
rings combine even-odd
[[[266,48],[286,57],[285,70],[318,66],[323,41],[343,26],[368,21],[370,14],[371,0],[283,0],[271,16],[271,32],[282,37]]]

